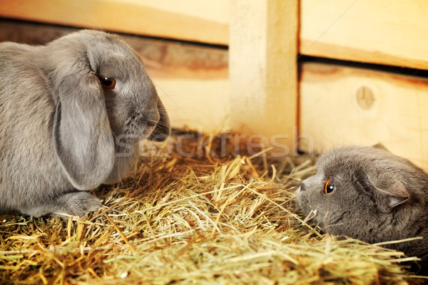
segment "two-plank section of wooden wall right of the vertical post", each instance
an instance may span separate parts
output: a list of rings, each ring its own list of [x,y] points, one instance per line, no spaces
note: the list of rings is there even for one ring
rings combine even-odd
[[[427,14],[424,0],[302,0],[300,53],[426,71]],[[315,151],[382,142],[428,170],[427,78],[304,63],[300,98],[300,133]]]

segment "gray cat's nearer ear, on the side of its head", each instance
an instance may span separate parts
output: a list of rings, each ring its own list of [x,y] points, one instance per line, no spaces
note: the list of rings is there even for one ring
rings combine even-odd
[[[379,179],[378,177],[367,177],[370,184],[374,188],[374,199],[376,199],[377,207],[382,212],[389,212],[392,208],[406,202],[410,194],[406,187],[396,178]]]

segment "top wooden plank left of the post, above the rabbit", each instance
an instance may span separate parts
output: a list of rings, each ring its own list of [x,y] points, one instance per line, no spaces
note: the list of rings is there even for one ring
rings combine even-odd
[[[228,1],[0,0],[0,16],[225,45]]]

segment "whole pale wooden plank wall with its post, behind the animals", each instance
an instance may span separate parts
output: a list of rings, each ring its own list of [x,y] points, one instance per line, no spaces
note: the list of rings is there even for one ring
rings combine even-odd
[[[153,41],[153,53],[143,51],[176,127],[288,133],[292,148],[297,137],[290,132],[298,126],[302,150],[382,142],[428,170],[427,73],[421,72],[428,70],[428,1],[52,3],[0,0],[0,16],[229,47],[206,47],[198,61],[180,58],[205,47],[180,53],[173,47],[183,43]],[[165,50],[166,59],[159,56]],[[415,76],[309,62],[296,79],[297,54],[415,68]],[[254,101],[253,112],[243,112]]]

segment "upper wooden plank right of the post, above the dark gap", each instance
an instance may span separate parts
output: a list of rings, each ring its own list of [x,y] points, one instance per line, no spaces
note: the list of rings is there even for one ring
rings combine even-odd
[[[300,53],[428,69],[428,1],[301,0]]]

